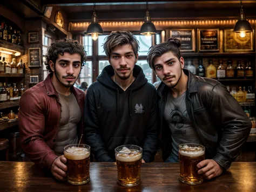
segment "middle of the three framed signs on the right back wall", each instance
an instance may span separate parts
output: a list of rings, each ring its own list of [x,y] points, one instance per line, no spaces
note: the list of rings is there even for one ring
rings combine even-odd
[[[219,51],[219,29],[198,30],[199,51]]]

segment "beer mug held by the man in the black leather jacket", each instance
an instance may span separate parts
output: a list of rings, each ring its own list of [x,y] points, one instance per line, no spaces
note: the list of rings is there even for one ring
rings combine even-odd
[[[204,146],[195,143],[179,145],[180,181],[191,185],[203,182],[203,175],[197,173],[197,164],[204,159]]]

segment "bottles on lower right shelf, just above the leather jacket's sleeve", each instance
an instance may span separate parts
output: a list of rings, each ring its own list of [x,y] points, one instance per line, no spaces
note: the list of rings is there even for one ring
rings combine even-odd
[[[255,94],[252,91],[252,86],[248,86],[248,90],[246,91],[245,86],[239,87],[239,91],[237,92],[235,87],[232,87],[232,90],[230,91],[230,87],[227,86],[227,90],[232,94],[232,96],[237,99],[238,102],[254,102]]]

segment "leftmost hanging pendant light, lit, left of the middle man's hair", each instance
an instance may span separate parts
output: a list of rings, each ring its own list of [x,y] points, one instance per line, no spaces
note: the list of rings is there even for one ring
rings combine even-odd
[[[93,40],[97,40],[99,35],[103,34],[102,26],[98,23],[96,15],[96,3],[93,6],[92,22],[87,28],[87,35],[91,35]]]

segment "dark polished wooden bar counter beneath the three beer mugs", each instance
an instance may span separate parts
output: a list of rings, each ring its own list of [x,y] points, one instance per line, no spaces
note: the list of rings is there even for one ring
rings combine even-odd
[[[90,164],[91,181],[73,186],[46,176],[31,162],[0,162],[0,191],[256,191],[256,162],[234,162],[211,181],[189,186],[179,181],[179,163],[143,163],[142,183],[135,187],[117,184],[116,163]]]

